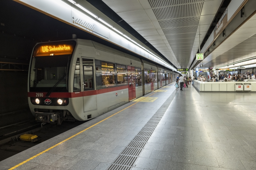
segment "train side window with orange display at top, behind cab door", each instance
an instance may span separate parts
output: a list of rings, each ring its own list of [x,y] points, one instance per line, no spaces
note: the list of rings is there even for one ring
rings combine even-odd
[[[102,88],[116,86],[116,71],[114,64],[101,63]]]

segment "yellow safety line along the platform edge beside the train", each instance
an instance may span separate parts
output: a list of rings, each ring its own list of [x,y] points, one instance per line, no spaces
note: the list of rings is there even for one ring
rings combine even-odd
[[[154,92],[152,95],[154,95],[155,93],[156,93],[156,92]],[[148,98],[148,97],[150,97],[150,96],[151,96],[151,95],[147,96],[146,98]],[[145,98],[143,98],[143,99],[145,99]],[[143,100],[143,99],[141,99],[141,100]],[[140,101],[138,101],[138,102],[140,102]],[[138,103],[138,102],[136,102],[136,103]],[[94,125],[91,125],[89,128],[86,128],[86,129],[82,130],[81,132],[78,132],[77,134],[75,134],[75,135],[73,135],[73,136],[70,136],[69,138],[67,138],[67,139],[65,139],[65,140],[63,140],[63,141],[61,141],[61,142],[57,143],[56,145],[52,146],[51,148],[48,148],[48,149],[46,149],[46,150],[44,150],[44,151],[40,152],[39,154],[34,155],[34,156],[32,156],[31,158],[28,158],[27,160],[23,161],[22,163],[19,163],[18,165],[15,165],[14,167],[10,168],[9,170],[11,170],[11,169],[15,169],[15,168],[19,167],[20,165],[25,164],[26,162],[30,161],[31,159],[34,159],[35,157],[37,157],[37,156],[39,156],[39,155],[41,155],[41,154],[45,153],[46,151],[48,151],[48,150],[51,150],[51,149],[55,148],[56,146],[60,145],[61,143],[66,142],[67,140],[69,140],[69,139],[71,139],[71,138],[73,138],[73,137],[75,137],[75,136],[79,135],[80,133],[82,133],[82,132],[84,132],[84,131],[86,131],[86,130],[88,130],[88,129],[92,128],[93,126],[95,126],[95,125],[97,125],[97,124],[99,124],[99,123],[101,123],[101,122],[103,122],[103,121],[107,120],[108,118],[110,118],[110,117],[112,117],[112,116],[114,116],[114,115],[116,115],[116,114],[118,114],[118,113],[120,113],[120,112],[124,111],[125,109],[127,109],[127,108],[129,108],[129,107],[133,106],[133,105],[134,105],[134,104],[136,104],[136,103],[133,103],[132,105],[130,105],[130,106],[128,106],[128,107],[126,107],[126,108],[124,108],[123,110],[121,110],[121,111],[119,111],[119,112],[116,112],[115,114],[113,114],[113,115],[111,115],[111,116],[109,116],[109,117],[107,117],[107,118],[105,118],[105,119],[103,119],[103,120],[99,121],[98,123],[95,123]]]

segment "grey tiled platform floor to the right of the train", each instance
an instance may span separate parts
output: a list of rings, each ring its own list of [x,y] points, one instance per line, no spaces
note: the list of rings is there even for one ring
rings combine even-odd
[[[256,94],[159,90],[5,159],[0,169],[256,169]]]

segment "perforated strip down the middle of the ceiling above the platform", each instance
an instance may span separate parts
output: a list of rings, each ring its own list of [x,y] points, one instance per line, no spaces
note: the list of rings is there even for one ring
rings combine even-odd
[[[189,62],[203,1],[148,0],[177,61],[184,67]]]

